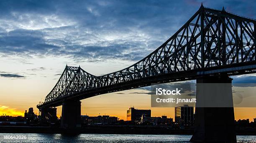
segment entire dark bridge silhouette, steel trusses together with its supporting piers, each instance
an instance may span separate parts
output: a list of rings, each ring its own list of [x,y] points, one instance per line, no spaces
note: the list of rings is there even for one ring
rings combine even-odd
[[[76,128],[81,126],[80,100],[152,83],[196,79],[197,83],[230,83],[230,90],[229,76],[256,73],[255,29],[254,19],[201,5],[164,44],[130,67],[95,76],[80,66],[66,66],[45,101],[37,105],[41,120],[51,118],[56,112],[52,107],[62,105],[61,127]],[[215,113],[221,121],[209,117]],[[233,108],[196,107],[191,141],[236,142],[234,126]]]

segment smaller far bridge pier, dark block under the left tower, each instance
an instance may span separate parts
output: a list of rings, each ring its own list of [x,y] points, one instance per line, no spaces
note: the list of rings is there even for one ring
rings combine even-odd
[[[61,128],[81,127],[81,102],[67,100],[62,103]]]

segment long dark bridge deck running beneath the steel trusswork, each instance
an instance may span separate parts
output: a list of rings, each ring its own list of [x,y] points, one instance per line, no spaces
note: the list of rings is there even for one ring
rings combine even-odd
[[[225,68],[224,68],[225,67]],[[107,94],[117,91],[123,91],[128,89],[136,89],[140,87],[150,86],[153,83],[171,83],[177,81],[187,81],[187,80],[194,80],[198,77],[202,76],[218,76],[221,74],[228,75],[228,76],[235,76],[241,74],[253,74],[256,73],[256,62],[250,62],[247,66],[241,67],[241,64],[223,66],[223,67],[212,67],[205,69],[205,71],[200,70],[191,70],[191,71],[184,71],[184,72],[177,72],[177,73],[170,73],[165,75],[156,75],[154,77],[145,78],[141,81],[141,79],[133,80],[126,82],[125,84],[115,84],[109,85],[105,87],[95,89],[90,89],[82,92],[77,92],[72,96],[62,97],[56,99],[54,101],[46,102],[44,104],[38,104],[38,108],[44,107],[56,107],[61,106],[64,100],[82,100],[87,99],[93,96],[97,96],[100,94]]]

